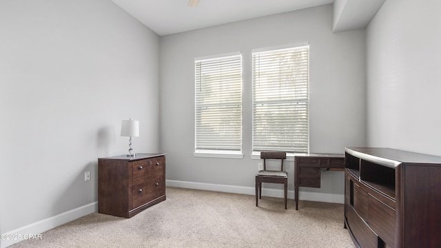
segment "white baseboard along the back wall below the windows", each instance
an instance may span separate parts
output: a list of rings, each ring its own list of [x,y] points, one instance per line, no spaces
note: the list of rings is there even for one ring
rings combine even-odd
[[[226,192],[234,194],[255,195],[254,187],[234,186],[234,185],[218,185],[213,183],[195,183],[181,180],[165,180],[165,185],[169,187],[182,187],[186,189],[201,189],[214,192]],[[320,192],[299,192],[300,200],[312,200],[325,203],[345,203],[344,194],[326,194]],[[262,196],[270,196],[283,198],[283,189],[262,189]],[[294,199],[294,190],[288,190],[288,198]]]

